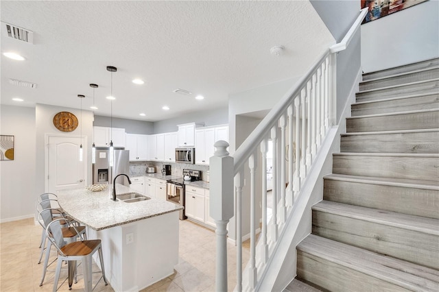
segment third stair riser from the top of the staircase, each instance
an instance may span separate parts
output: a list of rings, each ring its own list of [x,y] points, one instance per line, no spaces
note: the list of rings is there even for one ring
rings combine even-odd
[[[387,88],[381,90],[373,90],[370,92],[359,92],[355,94],[357,102],[372,101],[379,99],[388,99],[393,97],[405,97],[408,95],[421,95],[437,93],[439,90],[439,80],[422,82],[420,84],[407,84],[398,86],[397,88]]]

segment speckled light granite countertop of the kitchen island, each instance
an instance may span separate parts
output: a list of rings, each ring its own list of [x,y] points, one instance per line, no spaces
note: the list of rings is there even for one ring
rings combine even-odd
[[[116,184],[116,193],[130,193],[134,190],[128,186]],[[92,192],[86,188],[58,191],[58,203],[73,219],[92,228],[103,230],[123,224],[156,217],[169,212],[176,212],[183,207],[161,199],[126,203],[110,199],[112,184],[104,191]]]

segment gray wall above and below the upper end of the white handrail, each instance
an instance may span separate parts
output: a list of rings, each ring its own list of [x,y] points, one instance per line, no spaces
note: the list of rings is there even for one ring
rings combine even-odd
[[[359,14],[359,1],[310,0],[329,31],[340,42]],[[360,29],[346,50],[337,53],[337,123],[361,67]]]

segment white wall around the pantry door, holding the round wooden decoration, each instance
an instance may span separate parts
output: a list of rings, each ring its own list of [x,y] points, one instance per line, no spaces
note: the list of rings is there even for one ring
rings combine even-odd
[[[37,104],[35,108],[36,125],[36,193],[45,192],[45,136],[47,134],[57,134],[66,136],[80,136],[81,131],[81,111],[78,108],[62,108],[60,106],[48,106],[45,104]],[[54,115],[58,112],[71,112],[78,118],[78,127],[72,132],[61,132],[56,129],[53,123]],[[82,136],[87,137],[87,177],[85,185],[92,182],[92,168],[91,168],[91,144],[93,143],[93,112],[90,110],[82,110]]]

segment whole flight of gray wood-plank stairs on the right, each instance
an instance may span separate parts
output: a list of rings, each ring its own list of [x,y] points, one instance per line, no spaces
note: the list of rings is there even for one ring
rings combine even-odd
[[[439,59],[363,80],[285,291],[439,291]]]

